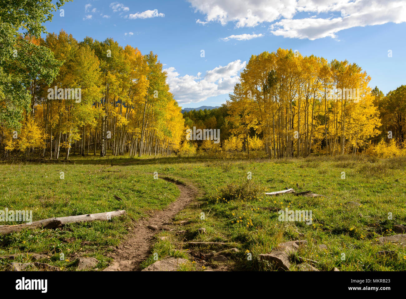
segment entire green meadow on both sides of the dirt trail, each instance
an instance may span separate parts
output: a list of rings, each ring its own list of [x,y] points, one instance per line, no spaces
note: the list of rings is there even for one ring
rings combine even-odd
[[[60,171],[65,174],[63,180]],[[175,184],[154,180],[154,171],[193,184],[205,194],[197,206],[189,206],[177,215],[176,221],[187,221],[182,225],[185,232],[161,232],[158,236],[168,238],[157,239],[152,249],[160,259],[168,255],[188,258],[184,270],[273,270],[258,255],[290,240],[307,240],[307,246],[296,255],[316,260],[320,270],[406,270],[406,248],[377,241],[380,236],[396,234],[395,224],[406,224],[406,159],[360,156],[287,160],[72,156],[71,163],[66,164],[1,164],[0,210],[33,210],[34,221],[117,209],[127,210],[128,215],[112,221],[0,236],[0,256],[46,253],[50,256],[48,263],[65,270],[75,269],[73,260],[78,256],[94,256],[100,261],[97,268],[103,269],[109,261],[106,251],[120,242],[133,221],[164,208],[179,195]],[[247,180],[248,171],[251,180]],[[324,196],[263,195],[285,188],[311,190]],[[123,201],[117,201],[114,195]],[[278,212],[264,207],[311,210],[312,223],[282,222]],[[392,215],[391,219],[388,215]],[[176,222],[171,228],[175,227]],[[200,234],[199,228],[205,228],[207,233]],[[226,263],[201,264],[196,256],[222,248],[185,250],[184,242],[189,240],[232,242],[239,252],[232,253]],[[321,244],[326,249],[320,249]],[[377,254],[384,250],[395,254]],[[65,254],[63,261],[59,260],[61,252]],[[252,260],[247,259],[247,254],[252,255]],[[20,259],[24,261],[24,257]],[[8,262],[0,259],[0,269]],[[144,266],[152,262],[151,256]]]

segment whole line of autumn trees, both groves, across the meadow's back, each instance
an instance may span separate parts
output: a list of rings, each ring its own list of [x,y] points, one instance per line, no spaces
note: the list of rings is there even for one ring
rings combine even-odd
[[[15,48],[46,50],[47,67],[28,72],[28,97],[0,118],[3,157],[65,159],[263,150],[268,158],[310,153],[405,154],[406,88],[386,96],[355,63],[279,48],[252,55],[229,100],[183,115],[158,56],[113,39],[78,42],[61,30],[19,37]],[[4,70],[26,66],[11,59]],[[10,110],[1,100],[3,111]],[[219,130],[219,140],[190,140],[190,130]],[[219,142],[220,141],[220,142]]]

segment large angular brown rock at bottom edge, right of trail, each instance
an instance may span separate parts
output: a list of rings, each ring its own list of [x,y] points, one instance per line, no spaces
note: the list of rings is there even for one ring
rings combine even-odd
[[[261,260],[269,260],[270,262],[272,262],[275,265],[276,270],[283,269],[289,271],[289,255],[296,252],[301,245],[305,244],[307,244],[306,240],[281,243],[270,254],[260,254],[259,258]]]

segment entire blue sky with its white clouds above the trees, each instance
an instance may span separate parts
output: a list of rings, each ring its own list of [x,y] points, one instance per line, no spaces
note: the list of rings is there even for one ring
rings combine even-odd
[[[384,93],[406,84],[404,0],[73,0],[62,8],[49,32],[153,51],[183,107],[224,103],[250,56],[278,48],[357,63]]]

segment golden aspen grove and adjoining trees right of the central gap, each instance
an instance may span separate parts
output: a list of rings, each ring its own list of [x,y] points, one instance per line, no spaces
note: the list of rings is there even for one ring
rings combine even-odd
[[[220,129],[223,152],[404,156],[406,86],[385,96],[370,80],[355,63],[279,48],[251,56],[221,108],[184,117],[189,127]],[[220,150],[207,143],[203,150]]]

